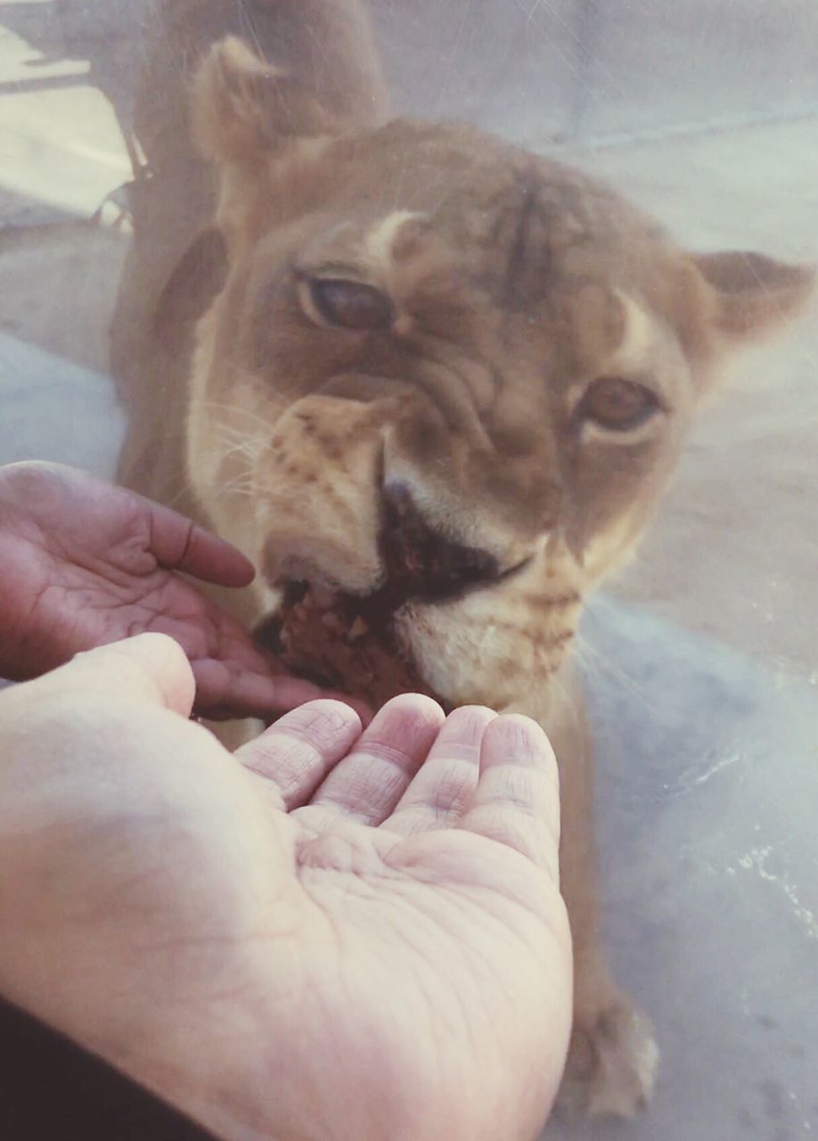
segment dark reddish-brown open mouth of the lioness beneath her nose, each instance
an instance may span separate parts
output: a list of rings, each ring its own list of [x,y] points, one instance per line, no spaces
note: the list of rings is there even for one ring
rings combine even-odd
[[[290,583],[256,639],[287,673],[363,697],[373,710],[397,694],[435,697],[398,646],[391,600],[382,592],[356,598]]]

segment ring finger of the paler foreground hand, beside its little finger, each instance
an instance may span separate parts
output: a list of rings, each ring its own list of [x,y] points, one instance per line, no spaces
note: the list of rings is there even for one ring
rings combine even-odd
[[[446,718],[426,763],[384,822],[410,835],[456,823],[471,803],[480,770],[480,743],[496,713],[462,705]]]

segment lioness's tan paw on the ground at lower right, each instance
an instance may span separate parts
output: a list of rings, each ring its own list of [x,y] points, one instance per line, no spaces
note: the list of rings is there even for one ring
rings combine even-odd
[[[558,1106],[569,1115],[633,1117],[650,1100],[658,1059],[648,1019],[618,998],[575,1022]]]

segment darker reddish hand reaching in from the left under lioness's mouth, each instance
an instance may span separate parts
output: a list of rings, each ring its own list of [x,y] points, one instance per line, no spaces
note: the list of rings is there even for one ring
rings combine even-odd
[[[121,487],[62,464],[0,467],[0,677],[34,678],[154,631],[184,648],[196,712],[212,719],[267,718],[324,696],[274,675],[241,623],[179,572],[221,586],[254,574],[228,543]]]

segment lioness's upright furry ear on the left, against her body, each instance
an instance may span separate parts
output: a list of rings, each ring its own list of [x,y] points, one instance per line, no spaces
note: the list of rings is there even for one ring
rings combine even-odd
[[[343,127],[313,90],[235,37],[213,44],[200,64],[192,118],[202,156],[234,164],[252,163],[294,139],[337,133]]]

